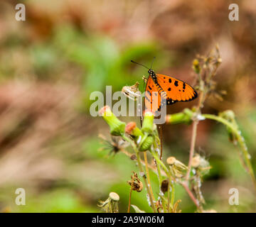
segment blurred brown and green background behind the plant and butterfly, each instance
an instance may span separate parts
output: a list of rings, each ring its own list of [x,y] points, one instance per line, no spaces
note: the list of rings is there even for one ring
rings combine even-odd
[[[18,3],[26,6],[26,21],[15,19]],[[240,7],[239,21],[228,20],[231,3]],[[154,56],[156,72],[195,84],[193,58],[216,43],[223,63],[215,81],[227,95],[208,99],[203,113],[235,111],[255,169],[255,23],[252,0],[1,0],[0,211],[101,212],[98,199],[112,191],[120,196],[120,211],[127,211],[127,180],[137,167],[122,153],[99,150],[98,134],[110,135],[102,119],[89,114],[90,93],[143,84],[146,70],[130,60],[150,65]],[[164,157],[187,163],[190,138],[191,126],[164,126]],[[213,167],[202,186],[205,209],[256,211],[250,177],[222,125],[200,122],[196,152]],[[26,206],[15,204],[20,187]],[[233,187],[239,206],[228,204]],[[151,211],[145,198],[134,193],[132,204]],[[183,212],[195,211],[183,188],[177,187],[176,199]]]

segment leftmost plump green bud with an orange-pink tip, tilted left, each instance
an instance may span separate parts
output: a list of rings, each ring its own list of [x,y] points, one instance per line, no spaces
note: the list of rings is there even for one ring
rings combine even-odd
[[[110,126],[111,135],[123,135],[125,123],[119,121],[119,119],[112,113],[110,106],[104,106],[99,111],[100,116],[104,118],[107,124]]]

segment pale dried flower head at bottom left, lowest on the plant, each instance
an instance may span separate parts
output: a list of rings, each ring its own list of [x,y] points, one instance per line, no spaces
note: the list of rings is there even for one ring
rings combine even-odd
[[[106,201],[100,201],[100,206],[106,213],[118,213],[119,195],[115,192],[110,192]]]

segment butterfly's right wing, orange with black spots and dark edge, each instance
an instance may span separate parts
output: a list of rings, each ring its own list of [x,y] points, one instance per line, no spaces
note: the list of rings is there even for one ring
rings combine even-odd
[[[171,105],[176,101],[192,101],[198,96],[197,92],[186,82],[164,74],[156,74],[159,87],[166,92],[166,104]]]

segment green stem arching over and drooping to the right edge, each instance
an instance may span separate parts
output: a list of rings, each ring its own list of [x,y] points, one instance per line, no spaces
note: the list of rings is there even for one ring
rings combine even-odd
[[[220,116],[215,116],[213,114],[202,114],[202,116],[204,118],[208,118],[208,119],[215,120],[215,121],[218,121],[220,123],[223,123],[225,126],[228,126],[228,128],[230,128],[233,131],[233,133],[236,135],[236,137],[238,138],[238,143],[239,143],[240,148],[242,150],[243,156],[245,158],[245,163],[246,163],[247,168],[248,168],[247,172],[249,173],[249,175],[252,179],[252,183],[254,184],[254,187],[255,187],[255,190],[256,190],[256,179],[255,179],[255,174],[254,174],[253,169],[252,169],[252,164],[250,162],[250,154],[248,153],[247,147],[246,147],[245,142],[244,142],[244,138],[242,137],[238,128],[236,128],[235,126],[233,126],[232,123],[230,123],[229,121],[227,121],[226,119],[224,119]]]

